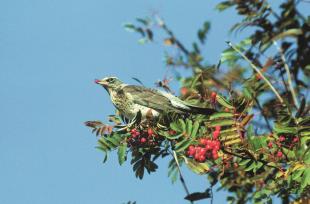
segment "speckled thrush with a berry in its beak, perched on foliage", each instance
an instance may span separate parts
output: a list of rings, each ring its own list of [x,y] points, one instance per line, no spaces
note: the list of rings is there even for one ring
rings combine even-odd
[[[143,119],[149,116],[157,118],[163,113],[210,115],[215,112],[211,108],[189,104],[165,91],[125,84],[117,77],[95,79],[95,83],[106,89],[113,105],[129,120],[138,112],[141,112]]]

